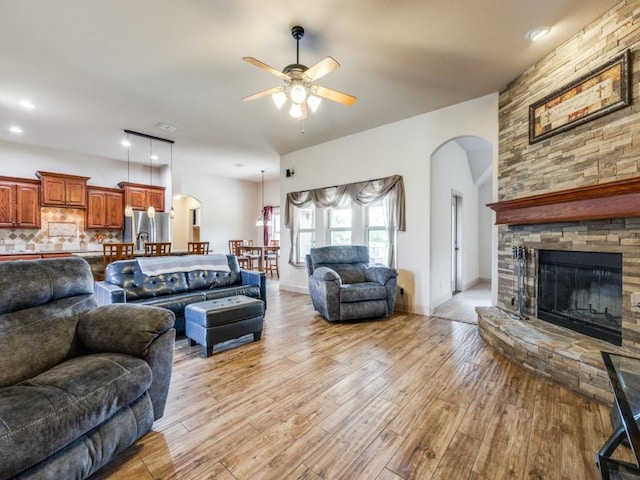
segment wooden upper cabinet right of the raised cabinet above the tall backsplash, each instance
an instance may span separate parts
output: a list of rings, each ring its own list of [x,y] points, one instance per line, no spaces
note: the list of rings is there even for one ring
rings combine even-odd
[[[124,197],[117,188],[87,187],[86,229],[124,228]]]

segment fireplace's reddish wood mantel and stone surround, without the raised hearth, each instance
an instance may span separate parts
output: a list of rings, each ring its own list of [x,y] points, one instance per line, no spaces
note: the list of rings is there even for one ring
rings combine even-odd
[[[544,275],[567,277],[573,272],[572,281],[578,291],[559,292],[560,296],[573,294],[574,297],[560,298],[556,302],[555,318],[551,321],[558,320],[554,323],[559,323],[568,319],[571,313],[576,314],[577,310],[583,313],[589,310],[589,314],[578,316],[577,320],[594,323],[603,317],[601,323],[607,324],[605,330],[609,331],[582,333],[593,334],[640,354],[640,309],[636,306],[638,302],[632,301],[632,295],[635,299],[635,295],[640,294],[640,178],[496,202],[489,206],[496,212],[496,223],[501,224],[498,306],[507,310],[513,308],[512,247],[524,246],[529,252],[525,263],[524,313],[527,317],[541,318],[540,305],[543,310],[545,307],[551,310],[545,313],[554,314],[554,306],[547,302],[550,299],[538,298],[541,264],[548,265],[542,270]],[[568,277],[564,280],[570,282]],[[584,283],[580,285],[576,283],[578,281]],[[586,298],[580,303],[590,294],[590,284],[595,285],[596,281],[605,284],[604,291],[599,292],[600,297],[597,300]],[[559,288],[569,287],[570,283]],[[615,301],[611,298],[614,288],[621,289],[620,299],[616,291]],[[596,292],[591,293],[595,295]],[[605,300],[610,301],[610,305],[602,303]],[[573,305],[567,302],[573,302]],[[576,302],[580,304],[576,306]],[[567,321],[564,326],[571,328],[570,324]]]

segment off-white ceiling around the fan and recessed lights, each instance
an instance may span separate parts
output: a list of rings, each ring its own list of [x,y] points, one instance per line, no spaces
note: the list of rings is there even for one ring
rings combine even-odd
[[[0,140],[125,159],[130,129],[175,140],[174,168],[277,178],[280,154],[499,91],[616,3],[3,0]],[[304,133],[270,98],[240,100],[281,84],[242,57],[295,63],[296,24],[300,62],[331,55],[342,67],[318,83],[358,97],[323,101]],[[527,41],[539,25],[553,29]]]

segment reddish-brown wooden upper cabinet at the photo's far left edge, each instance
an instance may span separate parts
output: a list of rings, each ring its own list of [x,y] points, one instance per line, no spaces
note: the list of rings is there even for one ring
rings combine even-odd
[[[0,177],[0,228],[40,228],[40,182]]]

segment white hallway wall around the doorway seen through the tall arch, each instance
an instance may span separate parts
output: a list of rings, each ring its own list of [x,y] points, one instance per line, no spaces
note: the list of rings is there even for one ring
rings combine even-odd
[[[461,289],[478,282],[478,187],[473,183],[467,152],[454,141],[431,157],[431,308],[451,298],[451,196],[462,199],[459,257]],[[426,212],[425,212],[426,213]]]

